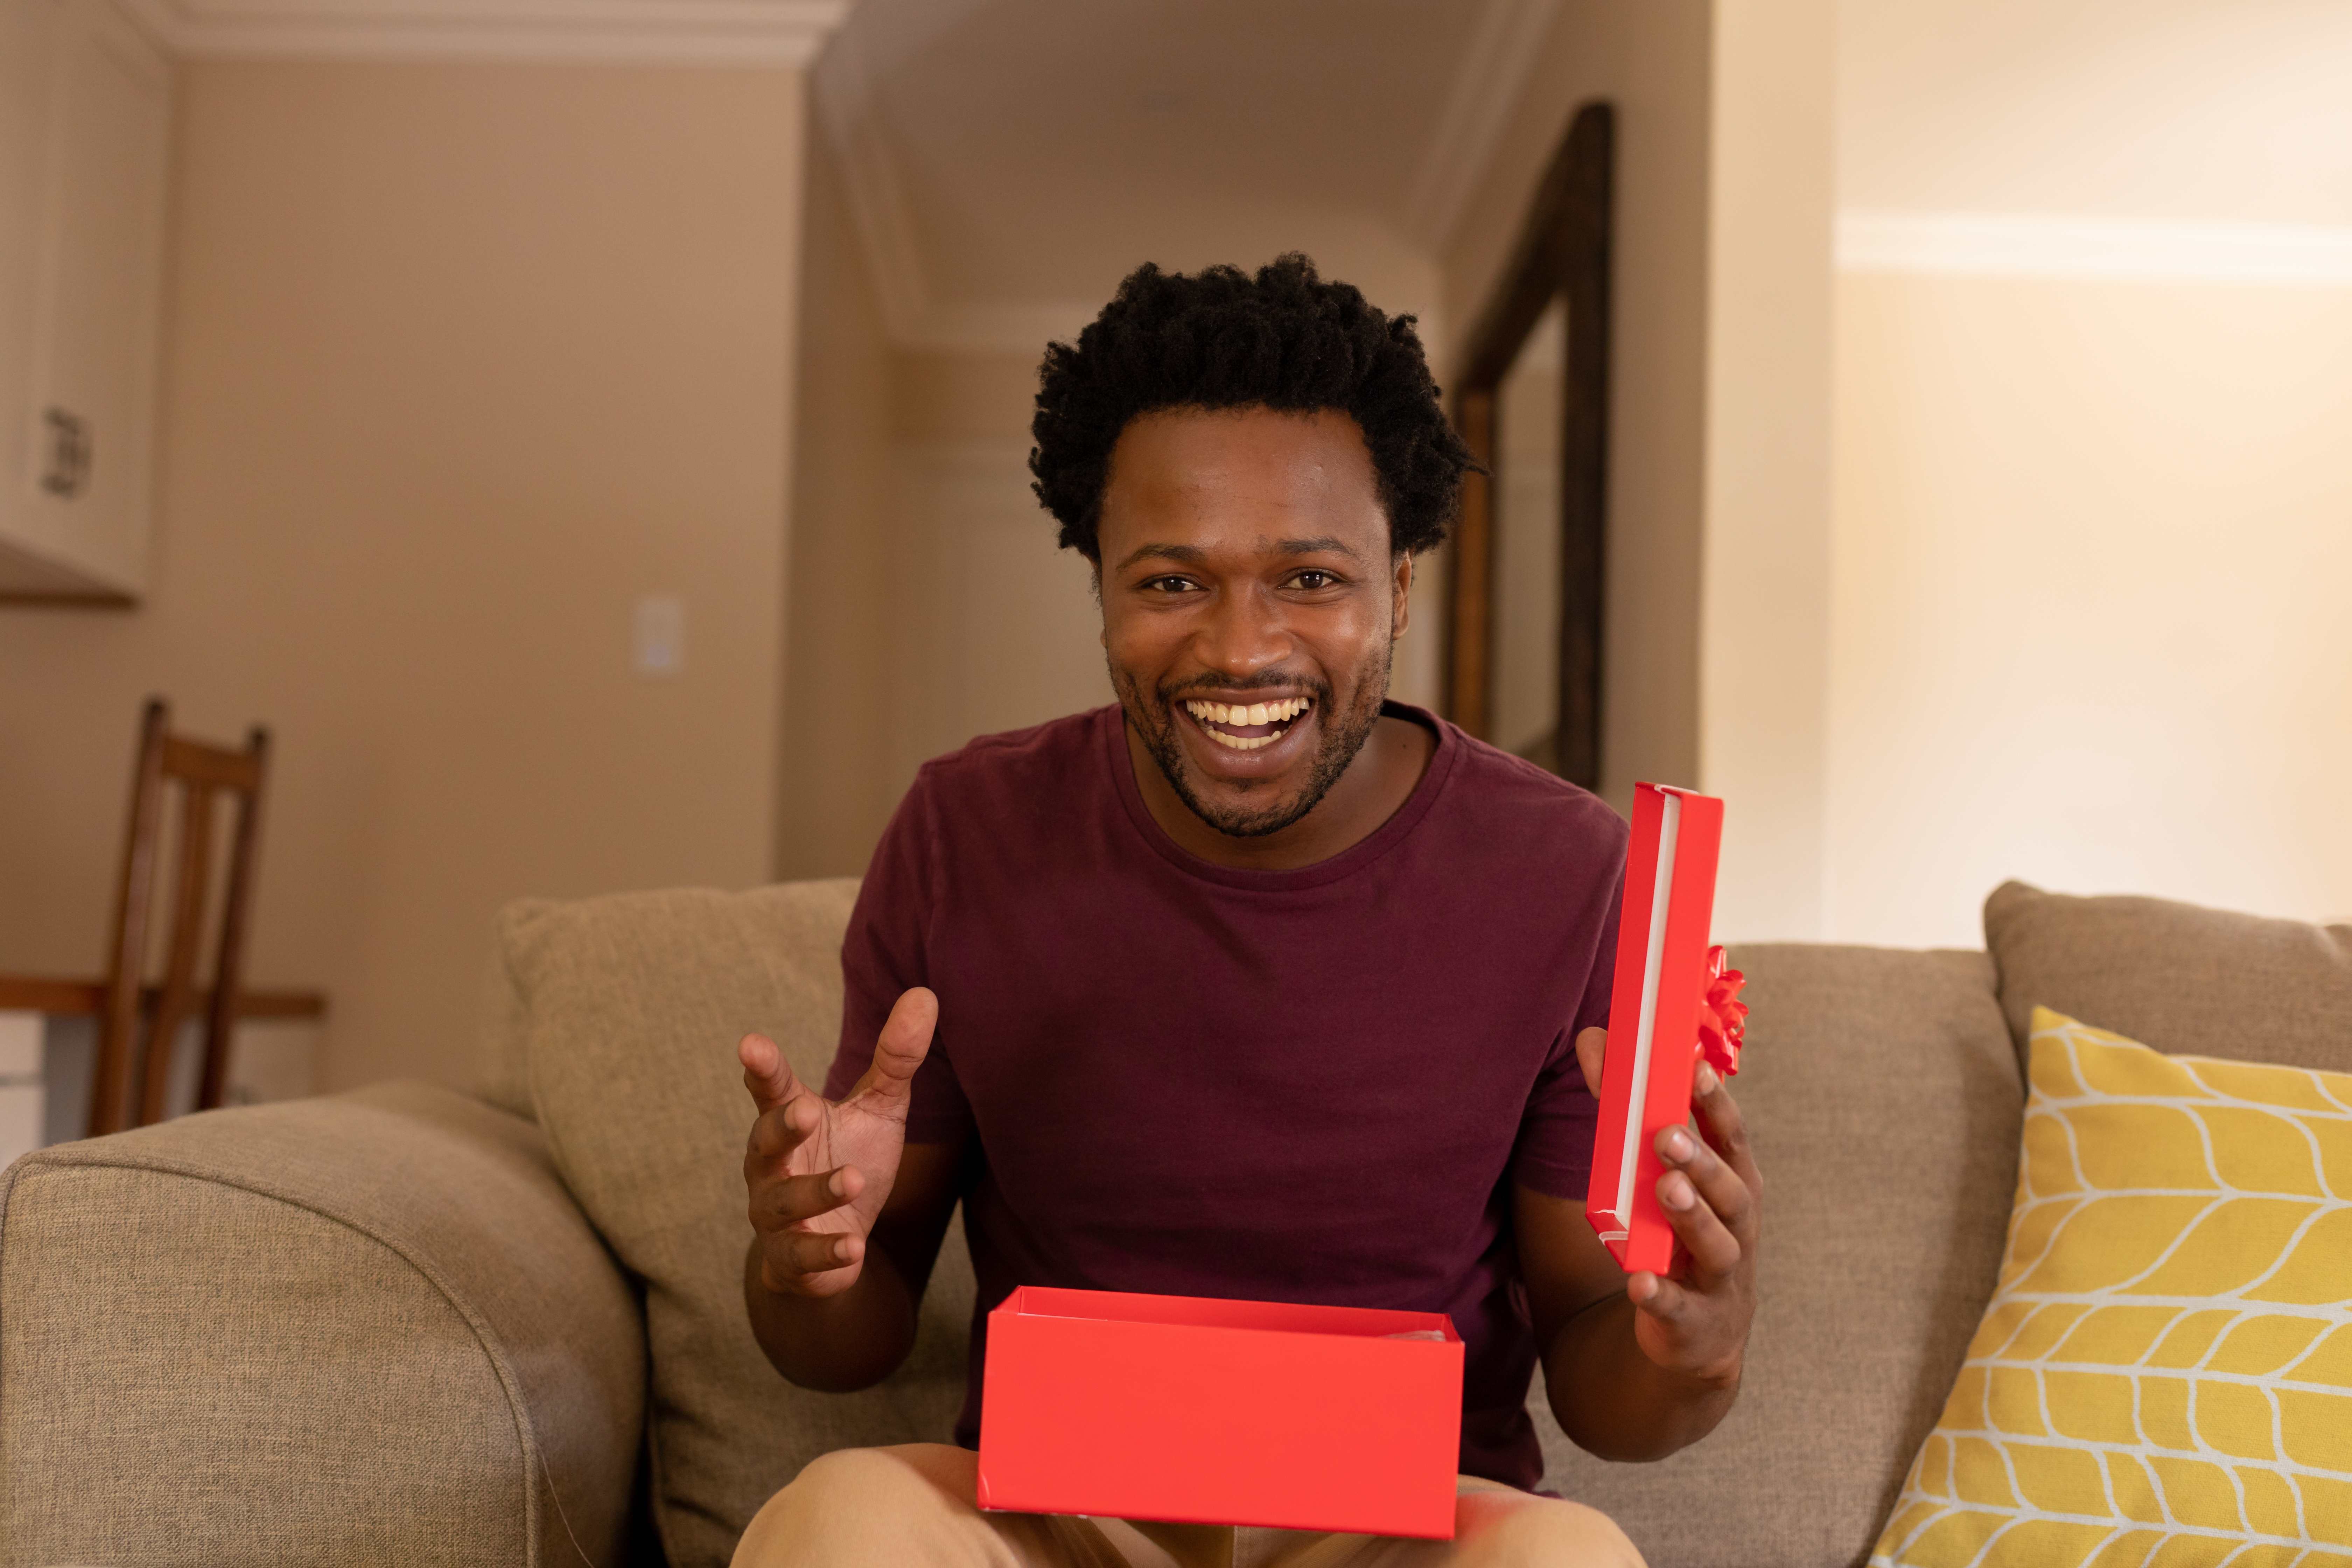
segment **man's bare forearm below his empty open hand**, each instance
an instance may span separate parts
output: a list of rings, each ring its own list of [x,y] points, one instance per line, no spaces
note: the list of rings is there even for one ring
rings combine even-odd
[[[875,1218],[854,1286],[837,1295],[771,1291],[760,1276],[762,1241],[743,1258],[743,1305],[769,1363],[804,1389],[847,1394],[882,1382],[915,1347],[915,1312],[938,1262],[962,1190],[964,1147],[910,1143],[898,1180]],[[847,1262],[842,1239],[811,1239],[809,1267]]]

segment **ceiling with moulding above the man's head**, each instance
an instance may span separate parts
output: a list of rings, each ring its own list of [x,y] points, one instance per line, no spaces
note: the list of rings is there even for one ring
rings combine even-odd
[[[1282,249],[1428,308],[1557,5],[863,0],[816,101],[903,343],[1033,350],[1138,261]]]

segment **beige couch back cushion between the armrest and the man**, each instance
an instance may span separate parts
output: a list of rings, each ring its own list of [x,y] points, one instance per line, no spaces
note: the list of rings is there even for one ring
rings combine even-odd
[[[960,1232],[922,1338],[880,1389],[811,1394],[769,1368],[743,1312],[736,1041],[776,1039],[823,1081],[856,882],[522,903],[501,917],[508,1030],[555,1164],[644,1284],[654,1516],[673,1568],[724,1563],[769,1493],[833,1448],[946,1439],[962,1396],[971,1267]]]

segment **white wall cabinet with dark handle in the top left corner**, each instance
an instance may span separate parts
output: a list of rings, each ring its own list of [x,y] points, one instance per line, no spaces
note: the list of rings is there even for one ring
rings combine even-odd
[[[146,590],[169,155],[113,0],[0,0],[0,599]]]

